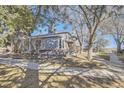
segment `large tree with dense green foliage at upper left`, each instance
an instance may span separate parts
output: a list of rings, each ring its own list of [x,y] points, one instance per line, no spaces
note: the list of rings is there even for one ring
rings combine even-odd
[[[11,36],[11,45],[14,47],[18,44],[20,34],[29,35],[33,32],[34,15],[29,6],[0,6],[1,32]],[[6,28],[6,29],[5,29]],[[8,37],[7,36],[7,37]],[[17,40],[14,43],[14,40]],[[16,46],[17,48],[18,46]]]

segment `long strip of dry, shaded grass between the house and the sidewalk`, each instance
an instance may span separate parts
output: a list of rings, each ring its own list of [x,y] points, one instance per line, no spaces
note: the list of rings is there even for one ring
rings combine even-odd
[[[63,67],[79,67],[79,68],[102,68],[104,64],[93,60],[89,62],[86,58],[86,54],[81,54],[78,56],[65,57],[62,59],[46,59],[38,62],[44,67],[60,67],[63,64]]]

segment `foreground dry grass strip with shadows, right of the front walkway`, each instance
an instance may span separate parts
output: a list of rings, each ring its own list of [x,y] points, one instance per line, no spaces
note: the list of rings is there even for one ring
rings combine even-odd
[[[109,77],[97,78],[78,75],[65,75],[62,73],[54,74],[40,73],[40,87],[49,88],[109,88],[124,87],[124,81]]]

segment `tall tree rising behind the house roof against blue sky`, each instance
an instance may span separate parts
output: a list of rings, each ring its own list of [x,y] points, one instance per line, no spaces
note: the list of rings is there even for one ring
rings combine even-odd
[[[40,6],[42,23],[39,22],[38,26],[46,28],[45,30],[47,30],[48,33],[54,33],[56,26],[66,19],[65,13],[61,11],[62,8],[61,6]]]

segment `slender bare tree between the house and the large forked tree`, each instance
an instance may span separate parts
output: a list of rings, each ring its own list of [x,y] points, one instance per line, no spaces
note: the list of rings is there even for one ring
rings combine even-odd
[[[83,17],[80,15],[80,11],[78,10],[78,6],[65,6],[66,11],[66,23],[71,25],[72,27],[72,35],[77,37],[78,43],[80,45],[80,53],[83,51],[83,37],[84,37],[84,31],[83,31]]]

